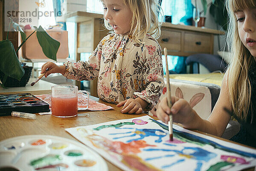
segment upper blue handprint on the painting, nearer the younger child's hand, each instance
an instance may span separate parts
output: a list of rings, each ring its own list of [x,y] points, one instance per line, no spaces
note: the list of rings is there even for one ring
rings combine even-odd
[[[126,129],[126,128],[119,128],[119,129]],[[136,131],[138,131],[138,133],[136,133]],[[164,135],[157,135],[156,134],[157,131],[163,133]],[[139,133],[139,132],[141,132],[141,133]],[[110,133],[109,135],[126,134],[126,133],[134,133],[134,134],[128,135],[128,136],[115,137],[113,139],[120,139],[120,138],[125,138],[125,137],[136,136],[136,135],[140,136],[140,138],[130,139],[127,141],[127,142],[132,142],[132,141],[144,139],[147,136],[156,136],[156,137],[158,137],[158,139],[155,140],[155,142],[162,142],[162,138],[167,135],[167,133],[165,133],[163,130],[160,130],[160,129],[137,129],[137,128],[135,128],[135,131],[129,131],[129,132],[125,132],[125,133]]]

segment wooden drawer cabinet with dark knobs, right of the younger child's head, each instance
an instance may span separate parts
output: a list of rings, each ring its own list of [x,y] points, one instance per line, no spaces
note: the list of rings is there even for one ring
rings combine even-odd
[[[168,55],[212,54],[214,35],[224,33],[214,29],[163,23],[161,37],[157,41],[162,50],[164,47],[167,48]]]

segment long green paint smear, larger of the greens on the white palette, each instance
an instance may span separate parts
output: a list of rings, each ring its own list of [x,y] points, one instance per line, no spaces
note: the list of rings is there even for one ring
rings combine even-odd
[[[40,167],[42,165],[50,165],[52,162],[56,160],[61,160],[60,155],[47,155],[45,157],[41,157],[39,159],[32,160],[30,162],[30,165],[37,165],[37,167]]]

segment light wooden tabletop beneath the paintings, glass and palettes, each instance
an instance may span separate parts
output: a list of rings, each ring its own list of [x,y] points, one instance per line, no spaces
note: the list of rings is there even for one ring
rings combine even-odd
[[[140,114],[140,115],[123,114],[120,112],[121,107],[120,108],[116,107],[116,104],[107,103],[93,96],[90,96],[90,98],[93,100],[99,101],[100,103],[110,105],[114,107],[114,109],[105,110],[105,111],[86,110],[86,111],[79,112],[79,114],[86,113],[86,116],[76,116],[76,117],[65,118],[65,119],[57,118],[51,115],[39,115],[39,114],[37,114],[37,118],[35,120],[16,118],[12,116],[1,116],[0,141],[7,138],[14,137],[14,136],[35,135],[35,134],[61,136],[64,138],[78,141],[69,133],[67,133],[64,130],[64,128],[93,125],[93,124],[109,122],[109,121],[114,121],[119,119],[130,119],[134,117],[145,116],[144,114]],[[219,139],[222,139],[222,138],[219,138]],[[105,159],[105,161],[107,162],[109,171],[122,171],[115,165],[108,162],[108,160]],[[247,169],[247,170],[254,171],[254,168]]]

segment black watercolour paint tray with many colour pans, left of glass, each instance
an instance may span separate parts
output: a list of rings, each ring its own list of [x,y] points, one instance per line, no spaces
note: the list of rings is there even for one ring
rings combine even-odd
[[[49,104],[30,93],[0,95],[0,116],[11,115],[12,111],[39,113],[49,112]]]

